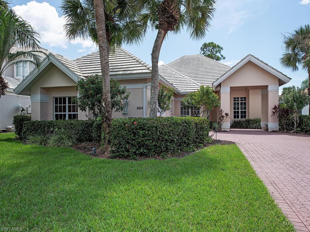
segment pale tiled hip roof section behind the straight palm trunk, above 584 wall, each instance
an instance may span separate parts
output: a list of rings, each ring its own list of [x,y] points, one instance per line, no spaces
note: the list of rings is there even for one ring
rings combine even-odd
[[[84,76],[101,75],[99,51],[73,60]],[[150,73],[151,66],[129,53],[123,48],[117,48],[109,55],[110,75],[135,73]]]

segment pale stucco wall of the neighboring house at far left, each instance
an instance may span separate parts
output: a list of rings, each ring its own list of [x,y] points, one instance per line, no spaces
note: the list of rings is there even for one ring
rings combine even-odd
[[[20,114],[20,105],[24,109],[28,104],[31,105],[30,97],[18,96],[12,92],[6,92],[6,94],[0,99],[0,129],[6,129],[7,126],[13,125],[13,116]]]

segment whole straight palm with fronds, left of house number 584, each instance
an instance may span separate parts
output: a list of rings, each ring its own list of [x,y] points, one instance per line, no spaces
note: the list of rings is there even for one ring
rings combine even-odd
[[[63,0],[61,9],[69,40],[90,37],[99,46],[104,130],[108,134],[112,121],[108,54],[123,43],[142,40],[145,29],[138,20],[142,6],[135,0]]]

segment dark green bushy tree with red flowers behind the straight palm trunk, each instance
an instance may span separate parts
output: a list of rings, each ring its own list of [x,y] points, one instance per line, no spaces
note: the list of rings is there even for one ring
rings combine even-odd
[[[99,75],[80,79],[77,84],[78,108],[84,112],[91,111],[94,118],[102,115],[102,78]],[[117,80],[110,82],[112,113],[122,112],[128,106],[130,92],[122,87]]]

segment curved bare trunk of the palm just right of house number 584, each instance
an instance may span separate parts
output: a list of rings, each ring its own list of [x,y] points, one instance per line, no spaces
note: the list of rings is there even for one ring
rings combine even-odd
[[[158,99],[158,59],[162,42],[167,34],[167,30],[161,26],[158,28],[157,37],[155,39],[152,50],[152,81],[151,81],[151,96],[150,96],[150,118],[157,117],[157,99]]]

